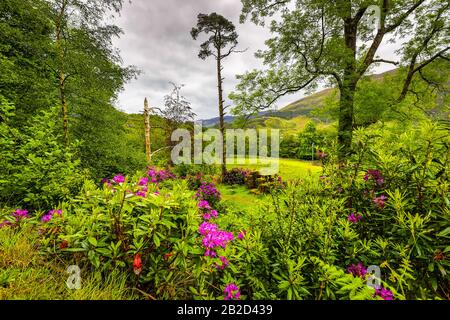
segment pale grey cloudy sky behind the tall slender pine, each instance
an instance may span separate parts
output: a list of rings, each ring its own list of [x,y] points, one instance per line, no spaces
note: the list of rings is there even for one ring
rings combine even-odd
[[[125,32],[115,40],[124,64],[135,65],[142,74],[125,86],[117,102],[118,108],[138,113],[147,97],[152,106],[162,107],[164,96],[171,91],[169,81],[185,84],[183,95],[192,103],[198,119],[218,115],[217,76],[214,58],[206,61],[197,57],[204,38],[192,40],[190,30],[197,22],[198,13],[217,12],[231,20],[239,34],[239,48],[245,53],[234,54],[224,63],[224,90],[227,96],[237,84],[235,75],[253,68],[261,68],[254,57],[264,49],[270,37],[268,30],[251,22],[239,24],[240,0],[133,0],[125,1],[124,9],[115,23]],[[379,53],[391,57],[394,49],[384,45]],[[384,65],[377,71],[392,68]],[[281,108],[301,98],[295,94],[278,102]],[[226,101],[226,105],[231,102]]]

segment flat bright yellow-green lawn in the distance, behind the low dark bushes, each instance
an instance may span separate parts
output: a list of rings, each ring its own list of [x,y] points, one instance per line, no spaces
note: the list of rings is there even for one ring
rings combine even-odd
[[[231,159],[227,160],[230,162]],[[239,159],[241,160],[241,159]],[[243,161],[239,161],[243,162]],[[259,170],[263,164],[249,164],[248,159],[245,164],[227,164],[227,168],[248,168],[252,170]],[[267,166],[267,165],[265,165]],[[320,174],[322,167],[317,162],[302,161],[294,159],[279,159],[279,175],[284,180],[300,179],[306,175]]]

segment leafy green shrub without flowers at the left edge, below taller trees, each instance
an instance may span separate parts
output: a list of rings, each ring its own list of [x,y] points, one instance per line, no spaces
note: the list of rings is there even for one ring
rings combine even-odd
[[[11,125],[14,116],[14,106],[1,99],[0,202],[37,209],[76,194],[84,175],[75,146],[60,142],[56,109],[36,115],[23,130]]]

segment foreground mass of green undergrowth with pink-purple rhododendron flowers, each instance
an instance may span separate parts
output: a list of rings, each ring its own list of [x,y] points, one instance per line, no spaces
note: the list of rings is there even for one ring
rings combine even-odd
[[[278,184],[253,206],[227,204],[216,177],[187,168],[8,202],[0,297],[448,299],[448,128],[392,126],[356,131],[346,163],[330,147],[320,177]],[[242,184],[238,172],[230,181]],[[66,286],[70,265],[80,290]]]

